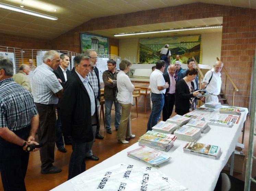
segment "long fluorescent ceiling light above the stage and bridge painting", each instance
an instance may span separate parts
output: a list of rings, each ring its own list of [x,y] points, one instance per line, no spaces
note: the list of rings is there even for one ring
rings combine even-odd
[[[164,29],[164,30],[154,30],[154,31],[119,33],[119,34],[114,34],[114,36],[130,36],[130,35],[154,34],[154,33],[162,33],[162,32],[176,32],[176,31],[186,31],[186,30],[214,29],[214,28],[221,28],[221,27],[222,27],[222,25],[208,25],[208,26],[186,27],[186,28],[182,27],[182,28],[176,28],[176,29]]]

